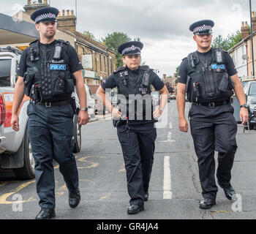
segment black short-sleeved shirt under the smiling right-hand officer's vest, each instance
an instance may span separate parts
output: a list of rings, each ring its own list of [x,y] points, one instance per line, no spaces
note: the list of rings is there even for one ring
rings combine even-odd
[[[197,51],[197,55],[199,56],[199,59],[201,59],[204,62],[207,62],[208,64],[211,61],[211,54],[212,54],[212,48],[206,53],[200,53]],[[224,60],[227,63],[227,73],[229,76],[233,76],[237,74],[235,64],[229,55],[229,53],[224,53]],[[188,64],[187,64],[187,58],[185,58],[181,62],[181,66],[178,69],[178,83],[184,83],[187,84],[187,73],[188,73]]]

